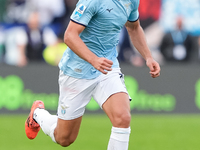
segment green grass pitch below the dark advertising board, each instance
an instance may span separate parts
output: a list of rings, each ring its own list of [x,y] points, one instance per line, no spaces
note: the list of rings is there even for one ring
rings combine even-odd
[[[0,115],[0,150],[106,150],[111,123],[105,115],[85,115],[77,140],[68,148],[42,130],[34,140],[24,131],[26,115]],[[132,115],[129,150],[199,150],[200,115]]]

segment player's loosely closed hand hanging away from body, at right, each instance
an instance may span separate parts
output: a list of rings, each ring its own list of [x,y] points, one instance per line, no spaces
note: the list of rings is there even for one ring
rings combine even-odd
[[[152,58],[146,60],[146,65],[150,69],[150,74],[152,78],[156,78],[160,76],[160,65]]]

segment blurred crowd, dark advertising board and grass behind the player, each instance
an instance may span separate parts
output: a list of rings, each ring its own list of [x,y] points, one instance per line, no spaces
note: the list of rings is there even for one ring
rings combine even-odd
[[[77,0],[0,0],[0,149],[64,149],[42,132],[30,141],[32,102],[56,114],[63,33]],[[199,150],[200,1],[140,0],[140,22],[161,76],[120,34],[119,61],[132,97],[130,150]],[[106,149],[111,124],[93,100],[69,150]]]

